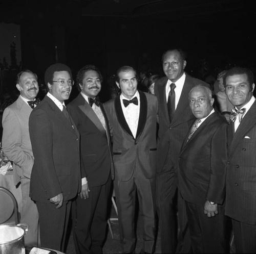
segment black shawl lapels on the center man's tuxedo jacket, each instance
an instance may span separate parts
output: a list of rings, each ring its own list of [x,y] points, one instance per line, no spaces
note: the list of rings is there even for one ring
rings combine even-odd
[[[120,101],[120,95],[118,95],[115,98],[115,110],[116,110],[116,115],[117,115],[117,119],[118,122],[120,124],[120,126],[122,127],[123,131],[126,132],[127,134],[129,134],[131,136],[132,139],[137,140],[146,123],[146,116],[147,116],[147,100],[146,100],[146,96],[143,92],[138,91],[139,95],[140,95],[140,114],[139,114],[139,121],[138,121],[138,128],[137,128],[137,134],[136,134],[136,138],[134,138],[131,129],[129,128],[129,125],[127,124],[123,111],[122,111],[122,106],[121,106],[121,101]]]

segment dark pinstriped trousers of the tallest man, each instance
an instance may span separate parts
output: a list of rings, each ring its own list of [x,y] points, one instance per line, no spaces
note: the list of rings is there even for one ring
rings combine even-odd
[[[157,174],[156,205],[159,217],[162,253],[190,253],[191,243],[184,200],[178,191],[179,236],[177,245],[176,200],[177,176],[173,170]]]

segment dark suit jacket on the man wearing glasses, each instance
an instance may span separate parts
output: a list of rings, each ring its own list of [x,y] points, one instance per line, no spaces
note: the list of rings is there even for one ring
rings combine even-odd
[[[29,133],[34,154],[30,197],[39,202],[62,193],[63,201],[80,192],[79,133],[48,96],[33,109]]]

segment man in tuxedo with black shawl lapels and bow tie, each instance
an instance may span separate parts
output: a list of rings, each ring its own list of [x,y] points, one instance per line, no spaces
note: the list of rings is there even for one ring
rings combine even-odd
[[[117,71],[121,94],[104,104],[113,135],[114,188],[120,242],[124,253],[136,244],[135,203],[138,195],[143,219],[141,253],[155,250],[155,184],[157,98],[137,90],[136,71],[123,66]]]

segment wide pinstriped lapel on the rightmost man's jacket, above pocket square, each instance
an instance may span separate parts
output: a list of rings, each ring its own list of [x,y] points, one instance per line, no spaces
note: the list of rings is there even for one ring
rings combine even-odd
[[[238,126],[237,131],[233,135],[233,139],[230,144],[229,157],[232,155],[234,148],[244,139],[247,132],[256,124],[256,100],[248,110],[243,120]]]

